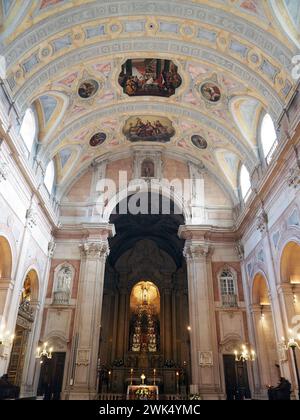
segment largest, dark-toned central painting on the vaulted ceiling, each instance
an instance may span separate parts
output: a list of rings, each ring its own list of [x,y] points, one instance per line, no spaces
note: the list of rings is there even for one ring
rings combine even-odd
[[[134,58],[122,65],[119,84],[129,96],[174,95],[182,79],[171,60],[160,58]]]

